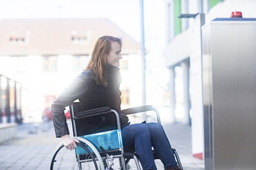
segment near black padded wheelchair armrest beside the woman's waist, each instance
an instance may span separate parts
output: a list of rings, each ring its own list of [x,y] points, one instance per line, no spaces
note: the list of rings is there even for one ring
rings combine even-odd
[[[82,112],[76,112],[76,116],[73,117],[73,119],[81,119],[84,117],[92,117],[96,116],[99,114],[105,114],[111,112],[111,108],[107,107],[102,107],[102,108],[94,108],[90,110],[84,110]]]

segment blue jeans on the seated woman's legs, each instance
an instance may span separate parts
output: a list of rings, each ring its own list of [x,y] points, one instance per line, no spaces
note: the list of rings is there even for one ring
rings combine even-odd
[[[136,150],[144,170],[156,169],[151,147],[164,167],[177,165],[167,135],[159,123],[127,125],[122,129],[122,143],[125,148]]]

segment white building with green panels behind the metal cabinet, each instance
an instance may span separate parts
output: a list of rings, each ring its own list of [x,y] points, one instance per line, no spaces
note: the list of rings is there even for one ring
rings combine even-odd
[[[215,18],[229,18],[241,11],[244,18],[255,17],[253,0],[167,0],[167,44],[164,50],[170,73],[172,121],[175,108],[182,104],[182,122],[191,123],[192,152],[204,158],[204,112],[202,101],[202,25]],[[182,80],[182,99],[178,99],[176,80]],[[180,102],[180,103],[179,103]]]

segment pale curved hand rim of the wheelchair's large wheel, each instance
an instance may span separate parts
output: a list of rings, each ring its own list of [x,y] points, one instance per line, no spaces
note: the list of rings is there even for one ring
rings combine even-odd
[[[88,145],[92,149],[92,151],[94,152],[94,155],[96,157],[96,158],[92,157],[92,161],[94,162],[94,165],[96,164],[96,162],[95,162],[96,160],[98,160],[98,162],[99,162],[99,167],[98,167],[98,165],[95,165],[96,169],[104,170],[105,166],[103,164],[103,159],[101,158],[96,147],[94,147],[94,145],[92,145],[92,143],[87,141],[85,138],[81,138],[81,137],[74,137],[74,138],[76,138],[78,141],[85,143],[85,145]],[[92,153],[85,147],[85,145],[83,143],[76,143],[76,145],[83,147],[83,149],[85,149],[91,156],[93,156]],[[63,147],[64,147],[63,143],[60,143],[58,145],[58,147],[56,148],[56,151],[54,151],[54,156],[52,157],[51,167],[50,167],[51,170],[53,170],[53,168],[54,168],[54,162],[55,162],[56,155],[58,154],[58,151],[60,151]]]

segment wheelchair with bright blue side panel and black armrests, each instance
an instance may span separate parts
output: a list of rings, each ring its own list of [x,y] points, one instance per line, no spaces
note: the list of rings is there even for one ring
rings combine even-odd
[[[153,111],[156,113],[158,123],[160,123],[160,116],[158,110],[152,106],[139,106],[136,108],[128,108],[121,110],[123,114],[135,114],[138,112]],[[135,151],[127,151],[122,146],[122,135],[120,117],[116,110],[109,107],[96,108],[92,110],[81,111],[79,102],[74,102],[70,106],[70,114],[72,121],[72,129],[74,138],[79,143],[76,143],[77,147],[74,150],[68,150],[64,147],[63,143],[58,145],[50,169],[96,169],[96,170],[131,170],[142,169],[140,160]],[[79,128],[84,126],[83,120],[103,114],[114,114],[116,117],[116,126],[113,129],[109,129],[105,132],[79,132]],[[178,152],[173,149],[175,160],[178,162],[178,166],[182,169],[182,164],[178,156]],[[154,159],[158,159],[156,152],[153,151]],[[118,158],[118,159],[117,159]],[[134,159],[134,162],[129,160]],[[119,160],[119,161],[118,161]]]

